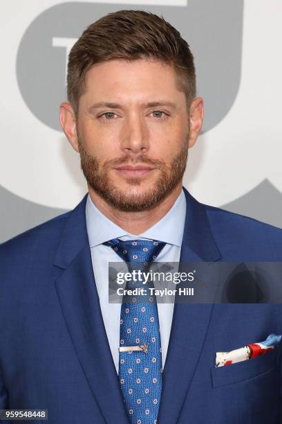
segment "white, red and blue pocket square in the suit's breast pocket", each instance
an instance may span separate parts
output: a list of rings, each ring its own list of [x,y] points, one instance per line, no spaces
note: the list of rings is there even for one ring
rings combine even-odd
[[[247,344],[230,352],[216,352],[216,366],[234,364],[264,355],[280,343],[281,337],[281,335],[270,334],[264,342]]]

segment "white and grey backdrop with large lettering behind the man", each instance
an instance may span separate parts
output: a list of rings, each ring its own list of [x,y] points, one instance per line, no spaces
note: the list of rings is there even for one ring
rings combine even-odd
[[[1,1],[0,242],[73,208],[86,193],[79,157],[53,117],[66,100],[64,91],[56,98],[56,87],[65,89],[66,53],[86,23],[117,8],[163,13],[191,37],[185,33],[196,58],[198,94],[207,102],[205,131],[189,150],[185,186],[191,194],[282,227],[282,4],[242,0],[241,13],[239,0],[225,3],[230,13],[220,0]],[[223,16],[213,17],[212,7],[223,7]],[[77,11],[84,16],[81,27],[75,27]],[[232,25],[225,26],[225,14]],[[211,43],[219,53],[209,57]]]

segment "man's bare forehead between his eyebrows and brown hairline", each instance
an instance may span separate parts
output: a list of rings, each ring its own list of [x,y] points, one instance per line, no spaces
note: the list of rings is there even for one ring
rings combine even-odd
[[[86,73],[85,82],[85,98],[144,101],[160,95],[176,100],[184,96],[176,85],[173,67],[159,60],[109,60],[95,64]]]

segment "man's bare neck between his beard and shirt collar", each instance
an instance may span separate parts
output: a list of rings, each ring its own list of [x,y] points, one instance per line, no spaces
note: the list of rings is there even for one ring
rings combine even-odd
[[[112,222],[117,224],[119,227],[124,229],[126,232],[131,234],[144,233],[147,229],[151,228],[153,224],[156,224],[162,217],[171,209],[174,202],[180,195],[182,189],[182,181],[176,186],[176,188],[165,197],[160,204],[149,211],[140,212],[125,212],[115,209],[109,205],[100,195],[97,195],[93,189],[88,186],[89,195],[95,206],[102,212],[106,218],[109,218]]]

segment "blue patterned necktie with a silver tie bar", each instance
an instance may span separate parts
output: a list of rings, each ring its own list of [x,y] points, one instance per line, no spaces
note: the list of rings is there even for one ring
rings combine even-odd
[[[126,240],[113,238],[104,245],[111,248],[131,270],[148,270],[164,242],[156,240]],[[162,391],[162,349],[158,305],[155,294],[149,292],[152,283],[127,282],[126,289],[142,287],[147,296],[131,297],[122,303],[120,312],[120,346],[143,346],[144,350],[120,352],[120,387],[129,421],[135,424],[156,424]],[[142,298],[142,299],[141,299]],[[125,297],[126,302],[128,297]],[[145,300],[145,301],[144,301]]]

